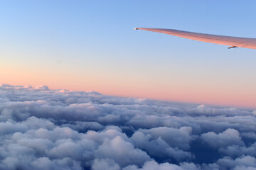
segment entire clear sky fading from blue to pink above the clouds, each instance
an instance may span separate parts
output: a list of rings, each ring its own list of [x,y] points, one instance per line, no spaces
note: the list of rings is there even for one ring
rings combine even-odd
[[[134,27],[256,38],[256,1],[0,1],[0,83],[256,108],[256,50]]]

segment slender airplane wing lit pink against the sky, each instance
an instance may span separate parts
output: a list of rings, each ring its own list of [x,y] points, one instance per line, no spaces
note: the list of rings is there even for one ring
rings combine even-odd
[[[229,45],[228,48],[245,47],[256,49],[256,38],[240,38],[223,35],[211,35],[204,33],[193,33],[183,30],[161,29],[161,28],[135,28],[135,30],[149,30],[157,33],[165,33],[181,38],[188,38],[191,40],[198,40],[203,42],[210,42],[220,45]]]

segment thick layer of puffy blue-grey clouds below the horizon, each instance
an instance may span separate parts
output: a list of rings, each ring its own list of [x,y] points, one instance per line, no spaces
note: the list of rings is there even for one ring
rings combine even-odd
[[[256,111],[0,86],[0,169],[256,169]]]

